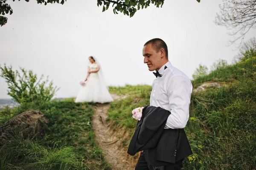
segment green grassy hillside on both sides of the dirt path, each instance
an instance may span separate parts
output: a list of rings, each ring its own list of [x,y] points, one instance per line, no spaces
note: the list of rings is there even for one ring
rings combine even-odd
[[[192,92],[185,131],[193,155],[185,159],[184,170],[256,169],[255,52],[234,65],[220,67],[192,81],[193,88],[205,82],[225,86]],[[106,120],[113,131],[129,133],[122,139],[123,147],[127,148],[137,124],[131,111],[149,104],[151,86],[109,89],[111,93],[128,96],[110,104]],[[24,138],[16,134],[10,145],[0,148],[0,170],[111,170],[92,130],[94,105],[76,104],[68,99],[1,110],[0,124],[29,109],[44,112],[49,124],[44,136]]]

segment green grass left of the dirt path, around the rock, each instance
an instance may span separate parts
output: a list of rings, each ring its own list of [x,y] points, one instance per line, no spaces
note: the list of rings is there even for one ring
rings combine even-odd
[[[111,170],[91,126],[91,104],[72,100],[22,105],[0,112],[0,124],[26,110],[44,112],[49,120],[44,136],[15,138],[0,149],[0,170]]]

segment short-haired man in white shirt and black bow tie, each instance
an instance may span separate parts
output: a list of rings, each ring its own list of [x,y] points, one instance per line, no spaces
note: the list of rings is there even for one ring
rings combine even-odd
[[[155,154],[161,154],[160,150],[144,150],[137,162],[135,170],[180,170],[182,168],[183,159],[192,153],[189,143],[186,138],[186,134],[183,130],[186,127],[186,123],[189,119],[189,104],[190,96],[192,93],[192,84],[189,78],[181,72],[179,69],[172,66],[168,59],[168,49],[166,43],[160,38],[154,38],[144,44],[143,47],[144,63],[147,64],[149,71],[153,72],[156,76],[152,84],[152,91],[150,96],[150,105],[154,107],[161,107],[168,110],[171,114],[168,116],[164,129],[176,131],[175,133],[184,135],[178,135],[180,139],[177,141],[178,148],[182,150],[180,160],[176,160],[175,163],[163,163],[161,166],[153,166],[155,162],[159,160],[149,157],[149,152],[156,152]],[[170,131],[170,133],[172,133]],[[182,136],[182,137],[181,137]],[[169,140],[169,139],[168,139]],[[172,140],[172,139],[170,139]],[[168,141],[165,142],[170,144]],[[159,144],[158,144],[159,145]],[[158,146],[157,148],[163,148]],[[175,148],[176,146],[169,146]],[[186,149],[185,149],[186,148]],[[177,152],[180,150],[177,149]],[[163,153],[163,154],[166,154]],[[168,153],[169,155],[176,154]],[[183,156],[182,156],[183,155]]]

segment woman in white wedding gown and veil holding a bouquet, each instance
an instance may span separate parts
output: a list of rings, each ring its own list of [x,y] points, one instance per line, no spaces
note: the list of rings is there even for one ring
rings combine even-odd
[[[95,57],[89,57],[88,73],[85,78],[86,84],[81,86],[75,102],[109,103],[113,101],[108,92],[102,69]]]

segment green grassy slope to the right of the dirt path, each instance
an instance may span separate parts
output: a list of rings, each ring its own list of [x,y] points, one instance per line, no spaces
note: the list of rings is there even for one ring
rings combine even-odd
[[[256,57],[218,68],[192,81],[194,89],[204,82],[228,86],[193,92],[190,118],[185,131],[193,155],[184,161],[186,170],[253,170],[256,168]],[[125,86],[111,89],[129,97],[111,103],[108,121],[113,129],[130,133],[137,121],[135,107],[149,105],[151,86]],[[137,158],[137,157],[135,157]]]

